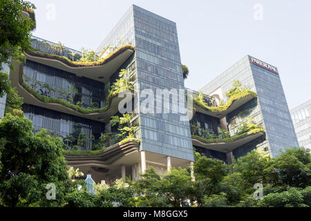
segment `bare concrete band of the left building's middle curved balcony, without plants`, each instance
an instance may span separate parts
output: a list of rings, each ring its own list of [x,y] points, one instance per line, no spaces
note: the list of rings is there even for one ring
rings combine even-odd
[[[109,122],[110,117],[115,115],[118,111],[118,106],[120,101],[123,99],[123,97],[112,97],[111,101],[109,102],[109,108],[106,111],[100,112],[100,113],[80,113],[79,111],[75,111],[72,108],[69,108],[67,106],[64,106],[62,104],[58,103],[46,103],[42,102],[41,100],[37,99],[35,95],[32,95],[26,88],[24,88],[21,84],[23,81],[23,65],[17,64],[17,62],[14,62],[15,70],[10,71],[10,79],[11,84],[14,87],[17,87],[18,93],[21,97],[23,97],[23,102],[26,104],[32,104],[35,106],[41,106],[43,108],[52,109],[55,111],[59,111],[62,113],[67,113],[70,115],[75,115],[78,117],[84,117],[86,119],[92,119],[98,122]]]

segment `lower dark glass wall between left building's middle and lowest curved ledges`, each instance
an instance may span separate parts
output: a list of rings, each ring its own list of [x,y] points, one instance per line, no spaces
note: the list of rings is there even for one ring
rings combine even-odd
[[[30,104],[23,104],[22,111],[28,119],[32,120],[35,130],[46,128],[48,131],[63,138],[72,135],[75,137],[75,140],[77,140],[80,133],[84,133],[86,137],[92,137],[93,135],[94,140],[87,141],[84,146],[86,150],[91,149],[92,145],[98,143],[99,137],[105,129],[104,123]]]

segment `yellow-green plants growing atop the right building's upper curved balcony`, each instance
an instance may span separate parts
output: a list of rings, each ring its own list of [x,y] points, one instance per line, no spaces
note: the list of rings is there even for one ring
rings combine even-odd
[[[205,102],[205,99],[203,99],[201,91],[199,92],[199,94],[194,94],[193,100],[194,104],[200,106],[200,108],[203,108],[204,110],[211,112],[221,112],[226,111],[238,99],[248,96],[255,98],[257,97],[257,94],[246,88],[241,88],[240,81],[234,81],[233,88],[230,89],[229,92],[225,94],[225,96],[228,98],[227,103],[223,104],[223,102],[221,102],[219,106],[211,106],[211,104],[207,104],[207,102]]]

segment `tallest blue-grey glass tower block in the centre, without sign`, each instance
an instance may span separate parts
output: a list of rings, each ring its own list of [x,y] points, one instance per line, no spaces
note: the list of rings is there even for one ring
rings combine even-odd
[[[136,62],[139,94],[144,89],[153,90],[154,95],[160,88],[185,90],[176,23],[131,6],[97,51],[117,45],[117,39],[129,40],[136,47],[132,59]],[[139,117],[137,136],[141,140],[141,150],[194,161],[189,122],[180,121],[184,115],[142,113],[140,102],[143,100],[138,96],[134,112]],[[172,103],[170,100],[171,108],[176,108]]]

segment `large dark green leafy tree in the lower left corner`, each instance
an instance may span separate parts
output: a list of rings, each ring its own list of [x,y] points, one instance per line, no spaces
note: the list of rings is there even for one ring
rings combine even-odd
[[[46,130],[34,134],[25,116],[8,113],[0,122],[0,202],[6,206],[48,206],[64,200],[70,187],[64,143]],[[46,184],[57,186],[57,200],[46,199]]]

